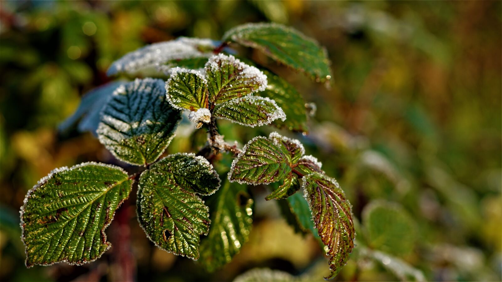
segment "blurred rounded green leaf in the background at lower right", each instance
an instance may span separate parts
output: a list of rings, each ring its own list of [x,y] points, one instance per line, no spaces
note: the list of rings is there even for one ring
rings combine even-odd
[[[368,246],[395,255],[409,254],[415,245],[415,222],[399,204],[373,201],[363,212]]]

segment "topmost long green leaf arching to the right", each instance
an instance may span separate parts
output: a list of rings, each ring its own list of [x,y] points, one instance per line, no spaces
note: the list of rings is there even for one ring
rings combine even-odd
[[[245,24],[226,32],[223,40],[261,50],[274,60],[311,75],[313,79],[331,79],[326,50],[292,28],[273,23]]]

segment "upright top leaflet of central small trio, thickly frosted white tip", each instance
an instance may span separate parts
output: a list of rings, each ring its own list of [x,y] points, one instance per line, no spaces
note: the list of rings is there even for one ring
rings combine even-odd
[[[222,103],[263,91],[267,87],[267,76],[262,71],[242,63],[232,55],[212,56],[205,70],[212,103]]]

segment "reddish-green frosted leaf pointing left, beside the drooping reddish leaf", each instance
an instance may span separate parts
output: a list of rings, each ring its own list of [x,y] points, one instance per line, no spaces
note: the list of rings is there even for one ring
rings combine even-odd
[[[268,184],[284,179],[291,167],[283,151],[272,140],[258,136],[251,139],[232,162],[230,182]]]

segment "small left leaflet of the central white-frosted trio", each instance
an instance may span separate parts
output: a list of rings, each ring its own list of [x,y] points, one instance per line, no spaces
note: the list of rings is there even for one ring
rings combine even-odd
[[[175,68],[166,82],[167,99],[177,109],[207,108],[207,81],[200,71]]]

